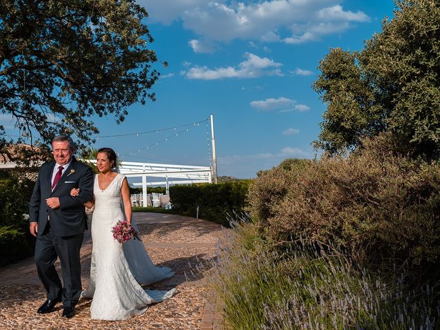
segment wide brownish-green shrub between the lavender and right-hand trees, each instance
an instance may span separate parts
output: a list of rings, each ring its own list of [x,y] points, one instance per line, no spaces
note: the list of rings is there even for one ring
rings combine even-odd
[[[440,164],[395,155],[389,135],[362,143],[347,158],[256,178],[252,217],[277,241],[305,234],[343,246],[361,263],[407,261],[428,272],[440,261]]]

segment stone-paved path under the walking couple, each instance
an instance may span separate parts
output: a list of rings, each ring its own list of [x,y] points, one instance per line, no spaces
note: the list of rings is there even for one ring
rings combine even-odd
[[[142,240],[156,265],[172,267],[176,275],[148,288],[170,289],[169,300],[152,305],[141,316],[126,321],[90,319],[90,300],[80,299],[76,316],[61,317],[61,304],[50,314],[36,314],[45,300],[32,258],[0,268],[0,329],[219,329],[219,320],[207,302],[203,276],[193,272],[199,261],[214,257],[221,226],[173,214],[133,213]],[[83,287],[90,270],[91,239],[86,232],[81,249]],[[59,264],[56,264],[59,273]]]

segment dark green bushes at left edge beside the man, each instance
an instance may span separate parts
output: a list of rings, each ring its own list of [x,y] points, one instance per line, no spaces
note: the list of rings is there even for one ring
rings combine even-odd
[[[25,217],[33,186],[32,181],[18,181],[0,171],[0,266],[31,256],[34,251],[34,236]]]

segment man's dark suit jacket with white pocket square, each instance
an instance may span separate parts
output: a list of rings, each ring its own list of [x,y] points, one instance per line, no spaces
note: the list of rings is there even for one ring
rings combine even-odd
[[[42,234],[50,217],[50,228],[55,236],[81,234],[87,228],[84,203],[93,195],[94,172],[90,166],[78,162],[72,156],[70,166],[65,170],[54,190],[51,188],[52,173],[56,162],[41,166],[38,179],[32,192],[29,206],[29,221],[39,223],[38,234]],[[80,194],[72,197],[72,188],[80,188]],[[60,207],[52,210],[46,199],[58,197]]]

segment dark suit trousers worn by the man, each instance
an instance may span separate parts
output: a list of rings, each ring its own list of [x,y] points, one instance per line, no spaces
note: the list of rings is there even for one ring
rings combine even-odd
[[[35,263],[39,278],[43,283],[47,299],[62,298],[64,307],[74,307],[78,303],[81,290],[80,248],[84,233],[73,236],[54,236],[48,222],[42,234],[36,237]],[[61,285],[54,263],[61,262]]]

